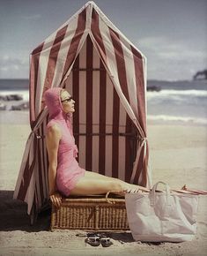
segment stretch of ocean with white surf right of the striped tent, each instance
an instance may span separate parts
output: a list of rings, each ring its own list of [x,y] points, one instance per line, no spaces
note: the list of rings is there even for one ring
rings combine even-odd
[[[207,124],[207,80],[149,81],[160,87],[147,92],[148,120]]]

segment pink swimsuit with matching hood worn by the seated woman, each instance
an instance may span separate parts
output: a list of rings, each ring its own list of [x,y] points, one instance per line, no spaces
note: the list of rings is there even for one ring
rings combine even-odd
[[[59,192],[68,196],[75,187],[80,177],[85,175],[85,169],[79,167],[76,157],[78,148],[72,133],[70,115],[63,112],[60,99],[62,88],[48,89],[45,94],[45,102],[49,110],[48,128],[56,124],[62,132],[57,152],[56,186]]]

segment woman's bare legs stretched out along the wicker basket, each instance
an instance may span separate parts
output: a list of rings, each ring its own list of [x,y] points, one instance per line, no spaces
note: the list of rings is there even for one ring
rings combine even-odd
[[[126,191],[126,190],[142,190],[148,191],[146,188],[129,184],[115,177],[107,177],[92,171],[85,171],[85,177],[78,180],[75,188],[70,194],[85,195],[85,194],[102,194],[108,191]]]

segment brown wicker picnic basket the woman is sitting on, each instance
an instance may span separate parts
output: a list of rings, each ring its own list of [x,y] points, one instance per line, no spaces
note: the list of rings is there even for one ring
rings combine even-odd
[[[129,230],[125,199],[105,195],[63,199],[52,206],[51,230]]]

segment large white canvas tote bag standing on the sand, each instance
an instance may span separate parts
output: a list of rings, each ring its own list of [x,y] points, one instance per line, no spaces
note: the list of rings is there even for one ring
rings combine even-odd
[[[158,184],[164,192],[156,192]],[[182,242],[196,234],[198,195],[172,193],[166,183],[158,182],[152,191],[126,193],[129,229],[136,241]]]

